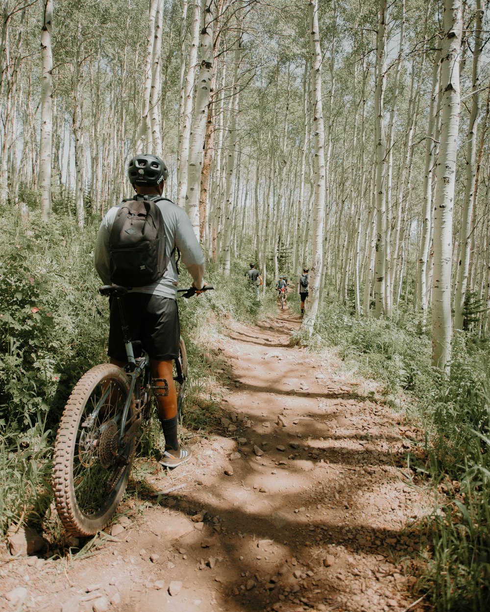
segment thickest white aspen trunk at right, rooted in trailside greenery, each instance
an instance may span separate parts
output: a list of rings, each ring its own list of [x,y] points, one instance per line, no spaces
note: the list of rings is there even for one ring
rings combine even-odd
[[[444,0],[441,59],[442,114],[434,196],[432,365],[447,370],[451,357],[451,253],[459,129],[459,52],[462,0]]]

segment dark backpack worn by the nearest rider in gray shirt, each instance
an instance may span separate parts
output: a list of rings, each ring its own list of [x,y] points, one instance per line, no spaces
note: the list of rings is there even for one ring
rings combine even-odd
[[[167,269],[170,258],[159,200],[166,198],[123,200],[119,207],[109,236],[111,282],[116,285],[149,285]]]

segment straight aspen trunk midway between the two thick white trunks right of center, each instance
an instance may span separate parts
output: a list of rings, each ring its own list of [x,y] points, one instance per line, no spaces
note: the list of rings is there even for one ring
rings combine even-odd
[[[379,0],[378,31],[376,44],[376,89],[374,94],[375,113],[375,150],[376,150],[376,248],[374,263],[375,317],[379,319],[384,312],[385,294],[385,244],[386,244],[386,199],[385,166],[386,141],[384,126],[384,94],[386,86],[386,0]]]

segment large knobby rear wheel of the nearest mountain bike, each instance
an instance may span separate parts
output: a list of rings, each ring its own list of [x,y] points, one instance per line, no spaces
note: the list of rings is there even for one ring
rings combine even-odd
[[[56,436],[53,488],[59,517],[71,534],[95,535],[104,529],[124,495],[135,446],[134,435],[123,452],[118,446],[118,417],[128,393],[123,370],[100,364],[80,378],[64,408]],[[97,402],[102,408],[90,424]],[[133,415],[134,403],[129,423]]]

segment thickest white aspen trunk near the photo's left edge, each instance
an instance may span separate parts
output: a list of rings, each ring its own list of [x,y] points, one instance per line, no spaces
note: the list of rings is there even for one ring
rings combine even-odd
[[[39,188],[43,221],[51,217],[51,155],[53,151],[53,51],[51,30],[53,1],[46,0],[41,34],[41,138],[39,150]]]

